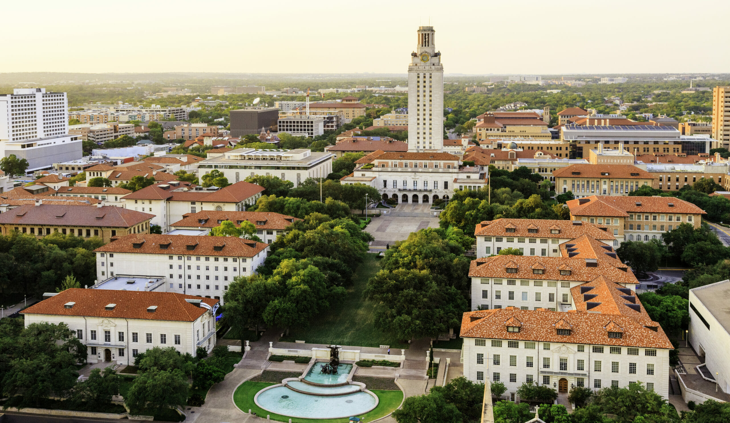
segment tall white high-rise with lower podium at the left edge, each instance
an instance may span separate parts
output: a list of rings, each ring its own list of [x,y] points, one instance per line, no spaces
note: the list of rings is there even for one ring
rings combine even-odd
[[[66,93],[15,88],[0,94],[0,157],[28,160],[28,171],[82,157],[80,136],[69,135]]]

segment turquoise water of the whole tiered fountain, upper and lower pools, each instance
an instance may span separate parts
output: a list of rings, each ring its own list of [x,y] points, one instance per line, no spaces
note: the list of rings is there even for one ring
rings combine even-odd
[[[364,385],[350,383],[351,364],[337,366],[337,374],[325,374],[315,362],[307,375],[285,379],[259,391],[255,403],[272,413],[307,419],[337,419],[364,414],[377,405],[377,396]]]

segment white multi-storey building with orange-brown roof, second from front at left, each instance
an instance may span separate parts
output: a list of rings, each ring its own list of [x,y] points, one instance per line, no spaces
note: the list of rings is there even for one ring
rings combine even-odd
[[[133,234],[94,250],[96,279],[156,275],[167,278],[167,292],[221,300],[228,284],[253,275],[268,251],[269,244],[233,236]]]

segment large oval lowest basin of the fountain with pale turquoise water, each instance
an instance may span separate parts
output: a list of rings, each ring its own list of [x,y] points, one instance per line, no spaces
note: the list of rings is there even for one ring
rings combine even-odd
[[[377,397],[369,392],[320,397],[302,394],[285,386],[275,386],[259,391],[254,397],[254,402],[266,411],[284,416],[302,419],[341,419],[367,413],[377,406],[378,401]]]

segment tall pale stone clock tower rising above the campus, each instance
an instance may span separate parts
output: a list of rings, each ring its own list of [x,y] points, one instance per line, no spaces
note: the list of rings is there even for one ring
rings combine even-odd
[[[408,65],[408,151],[444,148],[444,68],[433,26],[418,28],[418,47]]]

